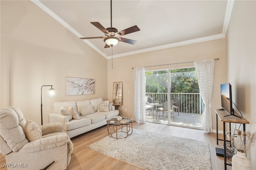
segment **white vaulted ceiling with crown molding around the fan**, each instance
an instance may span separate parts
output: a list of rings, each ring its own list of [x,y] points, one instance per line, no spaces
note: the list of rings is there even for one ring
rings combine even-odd
[[[110,27],[110,0],[32,0],[42,10],[80,37],[104,36],[90,22]],[[140,31],[124,35],[138,41],[118,42],[113,57],[224,38],[233,0],[112,0],[112,27],[119,31],[137,25]],[[103,39],[81,40],[111,58]]]

